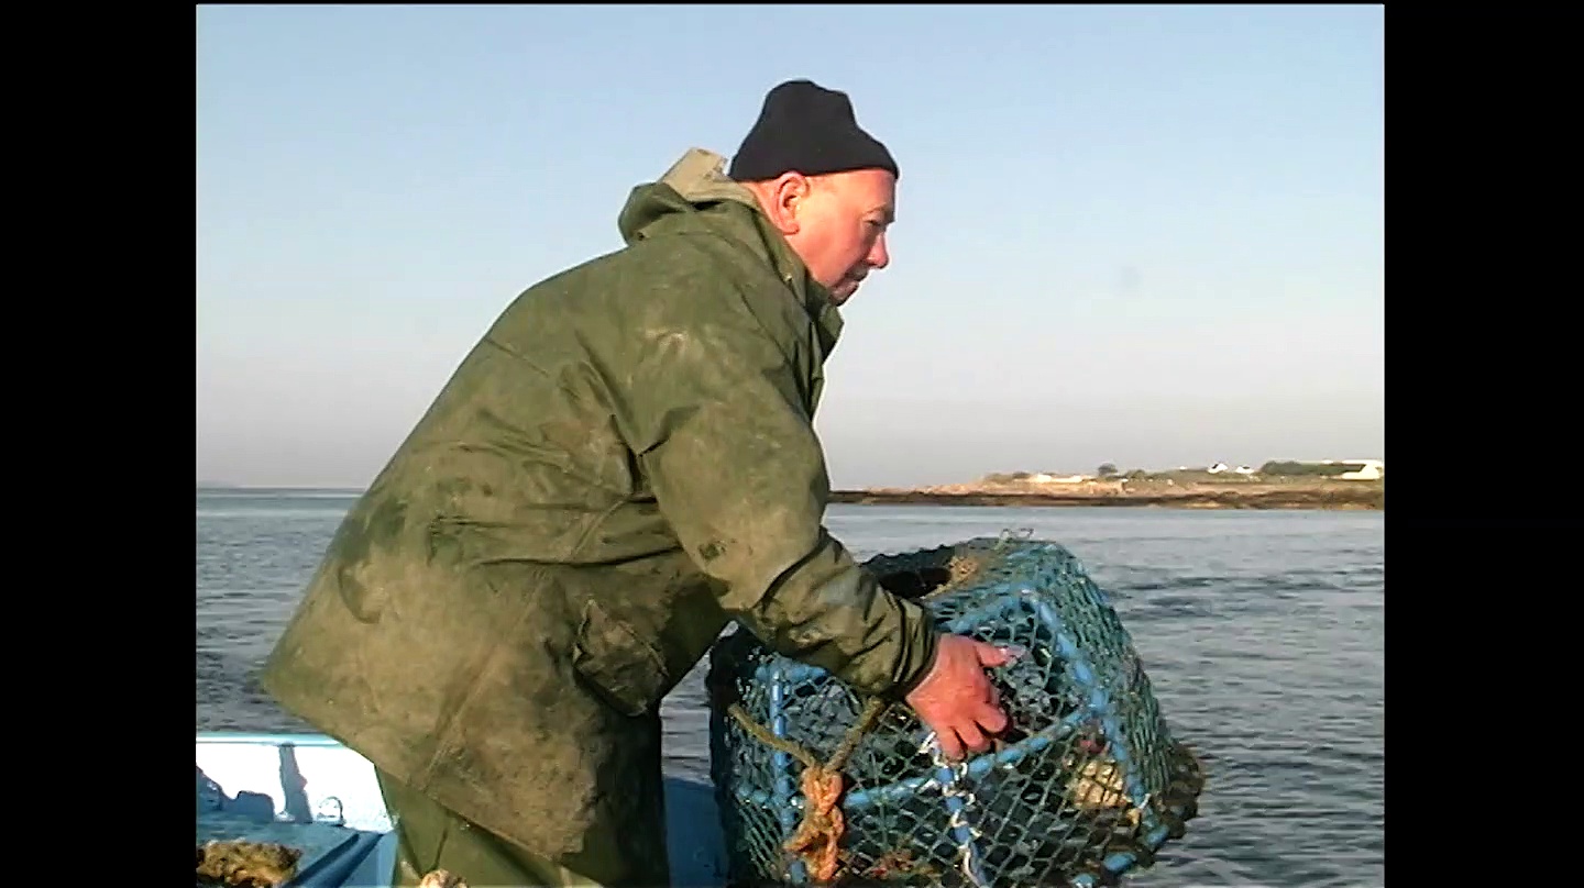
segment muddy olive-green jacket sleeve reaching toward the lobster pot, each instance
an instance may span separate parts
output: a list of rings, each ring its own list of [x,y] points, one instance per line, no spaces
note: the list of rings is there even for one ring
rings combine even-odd
[[[900,698],[930,668],[936,632],[825,530],[830,481],[797,378],[746,309],[651,329],[627,385],[638,462],[730,617],[855,690]]]

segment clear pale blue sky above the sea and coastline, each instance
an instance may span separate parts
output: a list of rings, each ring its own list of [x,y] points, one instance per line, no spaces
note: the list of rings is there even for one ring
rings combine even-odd
[[[838,486],[1384,459],[1380,6],[206,6],[198,478],[363,486],[779,81],[903,169]]]

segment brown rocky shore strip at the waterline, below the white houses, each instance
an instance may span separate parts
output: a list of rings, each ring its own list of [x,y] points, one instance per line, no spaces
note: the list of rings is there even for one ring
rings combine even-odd
[[[952,484],[835,491],[854,505],[1120,507],[1207,510],[1384,511],[1383,481],[1281,480],[1229,483],[1085,481],[1076,484]]]

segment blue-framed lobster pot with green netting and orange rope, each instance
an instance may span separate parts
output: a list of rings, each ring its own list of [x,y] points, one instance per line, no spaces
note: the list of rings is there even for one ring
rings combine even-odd
[[[721,638],[710,753],[732,885],[1091,888],[1183,836],[1202,771],[1072,554],[1001,537],[866,567],[942,630],[1026,651],[988,670],[1012,727],[949,763],[906,704],[855,696],[744,630]],[[838,793],[808,779],[832,774]]]

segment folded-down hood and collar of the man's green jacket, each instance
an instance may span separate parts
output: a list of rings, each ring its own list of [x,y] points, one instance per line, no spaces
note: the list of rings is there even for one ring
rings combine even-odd
[[[721,206],[741,206],[752,218],[754,233],[732,225],[718,212]],[[730,214],[738,215],[738,214]],[[759,209],[759,199],[725,174],[725,158],[705,149],[689,149],[656,182],[632,190],[616,218],[623,241],[629,245],[672,230],[708,228],[738,241],[752,239],[749,247],[762,252],[797,293],[821,326],[835,337],[841,315],[830,302],[830,290],[808,274],[808,266]]]

